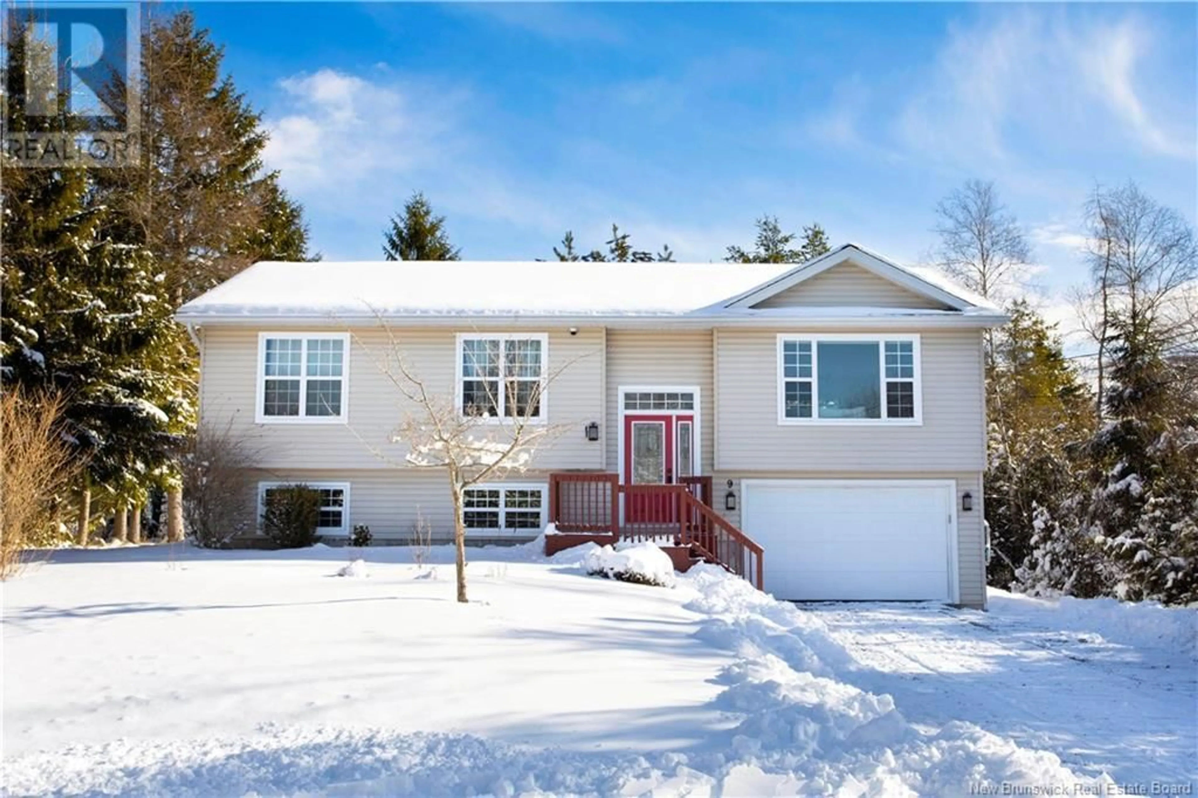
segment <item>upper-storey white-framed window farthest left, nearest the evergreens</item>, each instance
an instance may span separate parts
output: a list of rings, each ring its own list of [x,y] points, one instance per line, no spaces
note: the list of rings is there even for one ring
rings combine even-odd
[[[256,421],[344,422],[347,361],[343,333],[262,333]]]

